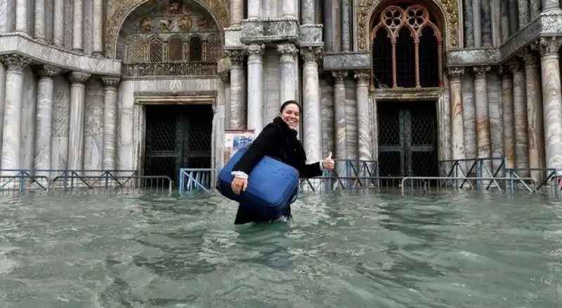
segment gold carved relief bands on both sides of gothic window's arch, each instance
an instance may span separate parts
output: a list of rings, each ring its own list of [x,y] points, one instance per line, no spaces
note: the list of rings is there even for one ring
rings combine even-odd
[[[374,18],[374,12],[379,9],[379,4],[382,0],[358,0],[356,15],[358,25],[358,48],[360,51],[370,51],[371,40],[371,24]],[[459,8],[455,0],[436,0],[433,4],[439,7],[441,16],[436,16],[438,19],[445,17],[445,36],[447,49],[459,48]]]

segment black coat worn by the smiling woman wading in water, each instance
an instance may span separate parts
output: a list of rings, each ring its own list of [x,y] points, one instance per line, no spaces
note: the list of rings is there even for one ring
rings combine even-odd
[[[299,170],[300,178],[313,178],[322,175],[320,162],[306,163],[306,153],[300,140],[296,138],[296,130],[289,128],[287,123],[279,116],[261,130],[261,133],[251,143],[246,153],[242,155],[240,161],[233,166],[233,170],[242,171],[249,175],[251,170],[263,159],[263,156],[278,159]],[[248,181],[251,181],[251,177]],[[289,206],[287,206],[284,215],[291,217],[291,208]],[[244,207],[243,204],[238,206],[234,222],[236,225],[263,221],[266,220],[263,220],[257,213]]]

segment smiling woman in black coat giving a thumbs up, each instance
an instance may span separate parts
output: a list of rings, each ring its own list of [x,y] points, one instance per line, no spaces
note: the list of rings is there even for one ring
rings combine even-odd
[[[313,178],[322,175],[323,169],[333,169],[332,153],[316,163],[306,164],[306,153],[303,145],[296,138],[296,126],[299,125],[301,106],[294,100],[287,100],[281,105],[279,116],[269,123],[256,140],[252,142],[246,153],[242,155],[233,167],[234,180],[232,189],[235,194],[245,191],[248,185],[248,175],[251,170],[263,159],[270,156],[299,170],[300,178]],[[291,207],[287,206],[283,216],[291,218]],[[266,222],[258,213],[240,204],[236,213],[235,225],[247,222]]]

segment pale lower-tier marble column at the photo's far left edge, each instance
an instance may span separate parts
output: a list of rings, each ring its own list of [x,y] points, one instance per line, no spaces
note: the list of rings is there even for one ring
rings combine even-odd
[[[31,59],[21,55],[1,55],[6,65],[6,93],[4,101],[4,128],[2,130],[2,169],[20,168],[21,118],[23,69],[30,65]],[[14,175],[3,172],[2,175]]]

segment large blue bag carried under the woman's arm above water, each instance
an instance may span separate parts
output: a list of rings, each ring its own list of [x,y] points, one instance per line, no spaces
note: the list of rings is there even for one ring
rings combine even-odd
[[[233,167],[248,147],[242,147],[218,173],[216,189],[226,198],[243,203],[266,219],[276,220],[283,210],[296,200],[299,189],[299,171],[277,159],[264,156],[251,170],[248,187],[240,195],[230,186],[234,180]]]

